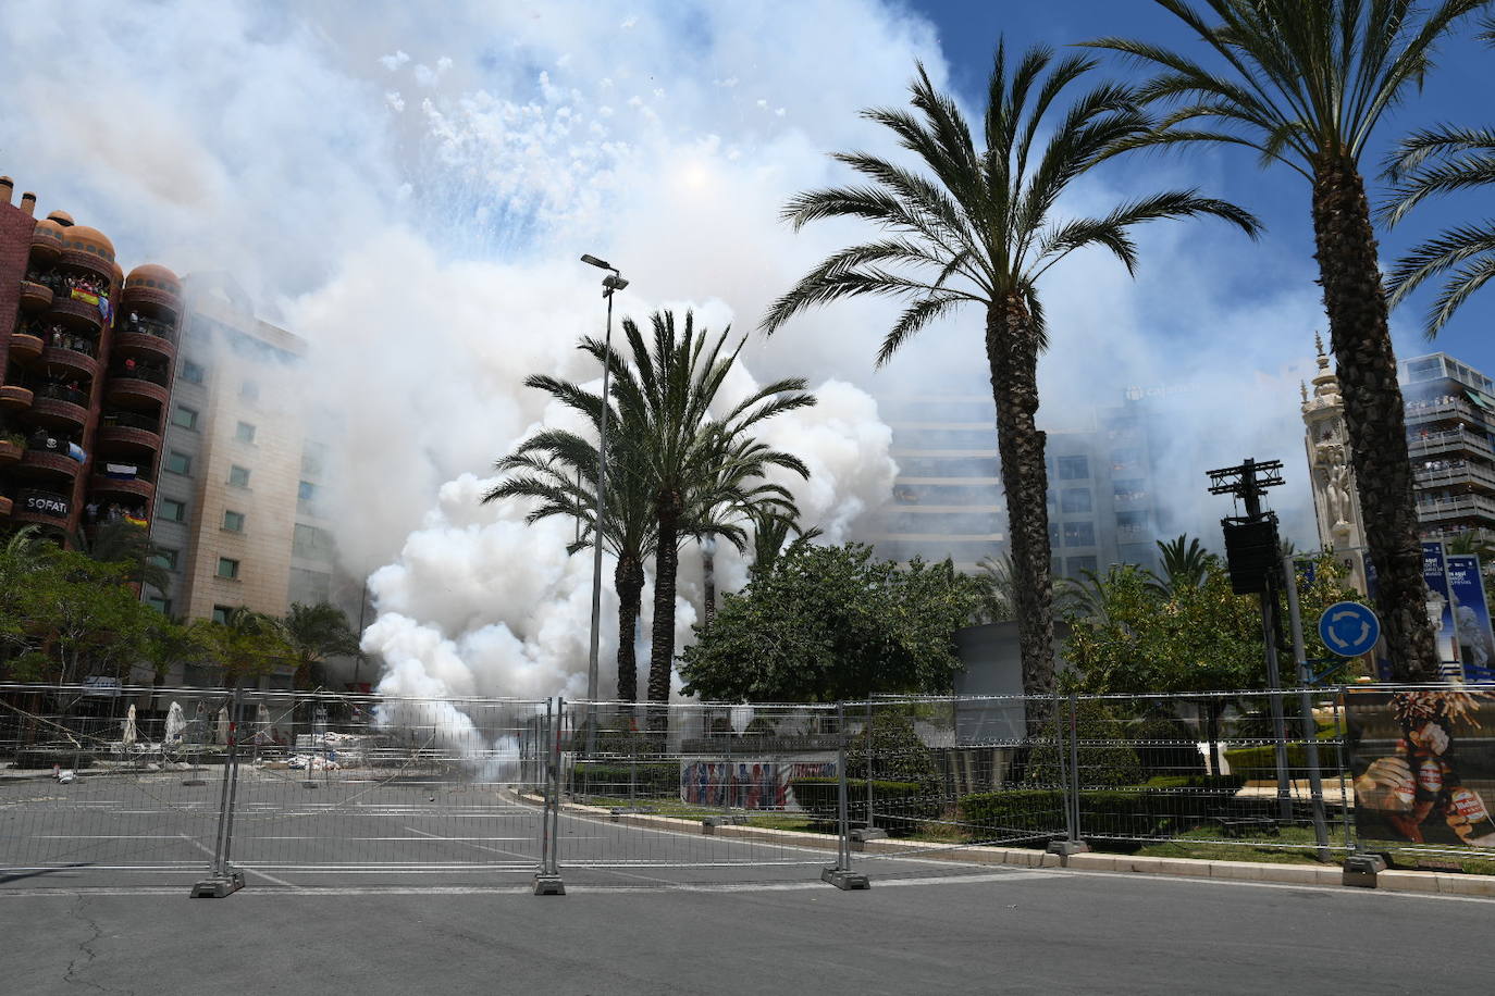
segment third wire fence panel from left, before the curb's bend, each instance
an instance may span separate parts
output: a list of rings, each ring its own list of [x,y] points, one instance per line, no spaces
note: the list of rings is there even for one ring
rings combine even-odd
[[[567,703],[561,868],[833,863],[840,742],[834,706]]]

